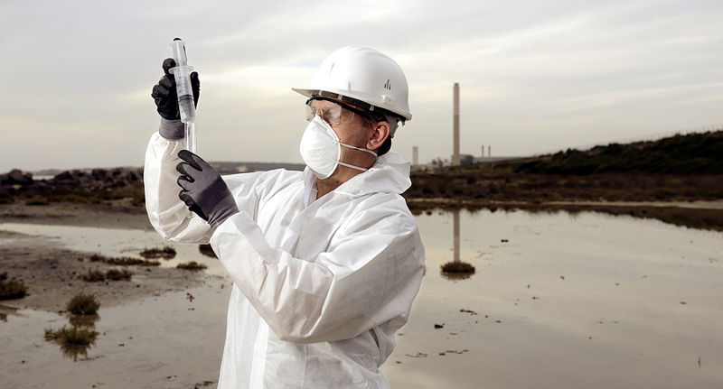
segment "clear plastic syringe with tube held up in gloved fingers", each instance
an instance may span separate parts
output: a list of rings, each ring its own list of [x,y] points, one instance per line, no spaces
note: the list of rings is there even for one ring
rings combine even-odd
[[[178,110],[181,122],[185,125],[186,150],[196,153],[196,106],[193,104],[193,91],[191,88],[192,66],[188,66],[186,57],[186,44],[181,38],[171,42],[174,50],[175,68],[169,69],[175,79],[175,90],[178,94]]]

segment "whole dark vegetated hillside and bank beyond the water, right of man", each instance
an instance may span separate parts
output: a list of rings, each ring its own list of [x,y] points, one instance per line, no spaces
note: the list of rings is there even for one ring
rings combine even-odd
[[[723,199],[723,131],[412,174],[407,199],[487,202]]]

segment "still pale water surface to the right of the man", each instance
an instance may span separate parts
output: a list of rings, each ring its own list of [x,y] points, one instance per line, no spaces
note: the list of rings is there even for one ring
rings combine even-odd
[[[453,262],[453,217],[417,218],[430,269]],[[463,218],[459,257],[480,272],[427,273],[381,366],[390,387],[723,387],[721,233],[593,212]]]

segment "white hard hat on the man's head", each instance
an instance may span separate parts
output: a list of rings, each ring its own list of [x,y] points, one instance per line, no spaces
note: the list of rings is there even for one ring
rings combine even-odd
[[[336,97],[361,101],[374,111],[387,110],[411,120],[409,88],[399,64],[366,47],[346,46],[324,59],[309,88],[292,88],[305,97]],[[343,98],[346,97],[346,98]]]

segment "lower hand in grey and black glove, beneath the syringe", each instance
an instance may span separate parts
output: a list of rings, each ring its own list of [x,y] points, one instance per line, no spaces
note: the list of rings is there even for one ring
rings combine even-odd
[[[178,198],[182,199],[189,209],[208,221],[213,228],[239,212],[229,187],[218,171],[188,150],[180,151],[178,157],[184,161],[175,168],[181,173],[176,181],[182,189]]]

